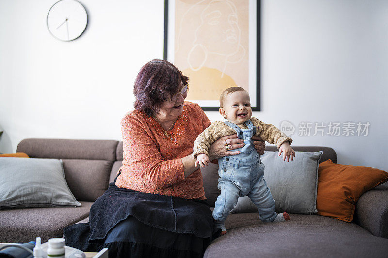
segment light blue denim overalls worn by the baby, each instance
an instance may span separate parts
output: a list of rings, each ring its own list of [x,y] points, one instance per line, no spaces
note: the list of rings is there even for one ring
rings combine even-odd
[[[238,197],[247,195],[258,208],[261,221],[275,220],[275,200],[263,178],[264,164],[253,145],[252,136],[256,127],[250,120],[245,121],[248,129],[240,129],[229,121],[225,123],[237,132],[238,138],[243,139],[245,145],[233,150],[240,151],[240,154],[218,159],[218,189],[221,194],[215,202],[213,218],[223,223],[236,206]]]

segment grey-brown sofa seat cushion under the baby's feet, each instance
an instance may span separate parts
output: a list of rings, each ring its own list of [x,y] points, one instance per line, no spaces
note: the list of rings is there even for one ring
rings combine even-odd
[[[263,223],[258,213],[237,213],[227,217],[226,229],[204,257],[386,257],[388,253],[388,239],[355,223],[318,215],[291,214],[287,222]]]

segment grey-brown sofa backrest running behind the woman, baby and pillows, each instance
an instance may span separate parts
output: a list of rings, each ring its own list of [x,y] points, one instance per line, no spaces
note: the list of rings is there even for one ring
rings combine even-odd
[[[336,152],[323,146],[292,146],[299,152],[323,150],[320,163],[331,159],[337,163]],[[276,146],[266,146],[266,151],[278,151]],[[65,177],[70,190],[79,201],[95,201],[113,182],[123,161],[123,142],[114,140],[24,139],[17,152],[31,158],[62,159]],[[219,195],[218,166],[210,163],[201,168],[205,196],[214,205]]]

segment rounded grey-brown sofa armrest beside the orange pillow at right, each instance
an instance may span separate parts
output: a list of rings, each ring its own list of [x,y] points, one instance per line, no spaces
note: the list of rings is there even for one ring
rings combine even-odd
[[[355,222],[373,235],[388,238],[388,187],[379,185],[357,201]]]

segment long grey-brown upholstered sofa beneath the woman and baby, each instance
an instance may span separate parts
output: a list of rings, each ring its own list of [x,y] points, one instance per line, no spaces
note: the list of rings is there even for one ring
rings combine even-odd
[[[333,149],[293,146],[295,151],[324,150],[320,161],[337,162]],[[275,146],[267,146],[275,151]],[[122,163],[122,142],[114,140],[24,139],[17,152],[32,158],[63,160],[68,186],[78,208],[0,210],[0,242],[26,243],[62,237],[65,226],[87,222],[93,202],[113,182]],[[205,195],[211,206],[219,194],[217,165],[202,169]],[[319,215],[291,214],[287,223],[261,223],[258,213],[231,214],[228,233],[215,239],[204,257],[388,257],[387,183],[363,194],[355,219],[346,223]]]

